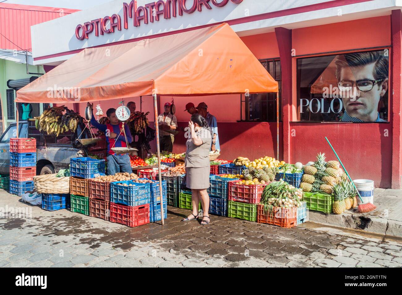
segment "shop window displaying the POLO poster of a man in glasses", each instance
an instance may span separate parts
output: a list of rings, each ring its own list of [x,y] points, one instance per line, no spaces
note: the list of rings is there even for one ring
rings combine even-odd
[[[387,122],[388,60],[388,49],[297,59],[297,119]]]

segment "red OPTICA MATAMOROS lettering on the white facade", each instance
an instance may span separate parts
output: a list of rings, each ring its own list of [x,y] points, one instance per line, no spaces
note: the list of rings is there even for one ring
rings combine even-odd
[[[230,0],[235,4],[243,2],[243,0]],[[189,5],[190,2],[191,7]],[[128,19],[133,19],[133,26],[140,26],[141,22],[148,24],[149,22],[159,21],[163,14],[163,18],[182,16],[183,13],[193,13],[196,10],[202,11],[204,6],[206,9],[212,9],[213,6],[223,7],[228,4],[229,0],[159,0],[137,7],[137,1],[132,0],[129,4],[123,3],[123,24],[119,14],[96,18],[84,24],[76,26],[76,37],[78,40],[89,38],[89,34],[95,36],[114,33],[115,30],[121,31],[121,27],[128,29]]]

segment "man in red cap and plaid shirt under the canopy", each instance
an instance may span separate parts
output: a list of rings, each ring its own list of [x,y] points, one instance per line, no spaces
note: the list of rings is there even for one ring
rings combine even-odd
[[[160,150],[172,153],[174,135],[166,130],[176,130],[177,119],[176,116],[170,114],[170,103],[168,102],[164,106],[164,113],[158,116],[158,125]]]

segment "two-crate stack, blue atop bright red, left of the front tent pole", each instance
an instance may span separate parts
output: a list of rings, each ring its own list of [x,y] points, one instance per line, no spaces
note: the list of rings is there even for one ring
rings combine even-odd
[[[150,222],[150,183],[110,183],[110,221],[129,227]]]

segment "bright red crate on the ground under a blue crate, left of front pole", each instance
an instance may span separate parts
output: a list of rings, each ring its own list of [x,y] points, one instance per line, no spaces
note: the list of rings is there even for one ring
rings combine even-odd
[[[110,221],[131,228],[150,223],[150,204],[133,207],[110,203]]]

